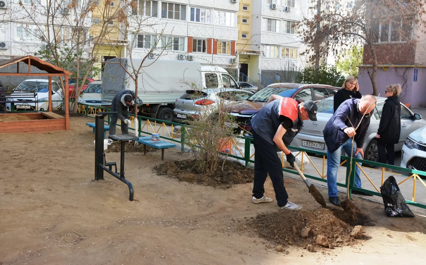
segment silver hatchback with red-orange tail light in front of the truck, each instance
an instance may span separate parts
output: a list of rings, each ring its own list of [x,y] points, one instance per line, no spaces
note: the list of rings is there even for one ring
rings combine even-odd
[[[230,104],[245,100],[252,94],[252,92],[234,88],[187,90],[185,94],[176,99],[173,118],[176,121],[195,119],[205,111],[216,110],[218,102],[221,100],[224,100],[224,104]]]

